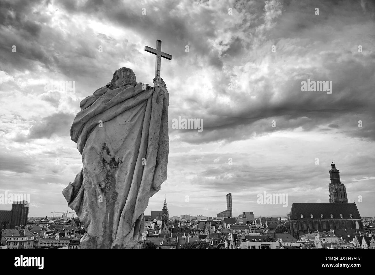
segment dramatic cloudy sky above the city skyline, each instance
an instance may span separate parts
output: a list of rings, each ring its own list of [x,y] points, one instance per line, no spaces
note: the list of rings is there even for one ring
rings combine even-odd
[[[66,211],[80,101],[120,67],[152,84],[144,46],[160,39],[173,56],[161,65],[168,180],[146,214],[166,195],[170,216],[214,216],[231,192],[234,215],[286,216],[293,201],[329,202],[334,161],[349,201],[375,216],[374,30],[373,1],[2,0],[0,193],[29,193],[29,216]],[[332,94],[302,92],[308,78],[332,81]],[[178,116],[203,131],[172,129]],[[263,192],[288,194],[288,207],[257,204]]]

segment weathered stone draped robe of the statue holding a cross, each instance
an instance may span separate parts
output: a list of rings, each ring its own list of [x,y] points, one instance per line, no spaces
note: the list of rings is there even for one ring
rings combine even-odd
[[[141,248],[143,212],[166,180],[169,95],[138,83],[83,102],[71,128],[83,168],[63,191],[86,226],[80,247]]]

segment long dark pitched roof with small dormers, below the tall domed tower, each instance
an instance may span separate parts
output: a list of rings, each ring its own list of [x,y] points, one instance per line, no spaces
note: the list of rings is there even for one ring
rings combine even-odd
[[[322,219],[321,214],[323,219],[361,219],[355,203],[293,203],[290,219]]]

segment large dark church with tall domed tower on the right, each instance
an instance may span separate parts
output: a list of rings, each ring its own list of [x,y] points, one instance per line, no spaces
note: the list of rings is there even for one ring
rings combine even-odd
[[[355,203],[348,203],[347,191],[335,164],[329,171],[329,203],[293,203],[288,214],[290,234],[295,238],[314,231],[363,229]]]

